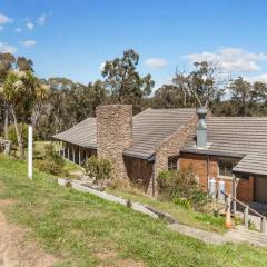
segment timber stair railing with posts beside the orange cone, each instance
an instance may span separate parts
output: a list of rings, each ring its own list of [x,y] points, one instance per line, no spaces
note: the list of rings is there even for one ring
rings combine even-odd
[[[221,191],[222,195],[226,196],[227,198],[227,204],[230,204],[233,201],[233,206],[234,208],[234,214],[236,211],[236,204],[240,205],[244,208],[244,226],[246,229],[248,229],[249,227],[249,212],[254,214],[256,216],[258,216],[260,218],[260,231],[265,233],[266,231],[266,217],[261,214],[259,214],[258,211],[256,211],[255,209],[250,208],[249,205],[241,202],[240,200],[238,200],[237,198],[233,197],[231,195]]]

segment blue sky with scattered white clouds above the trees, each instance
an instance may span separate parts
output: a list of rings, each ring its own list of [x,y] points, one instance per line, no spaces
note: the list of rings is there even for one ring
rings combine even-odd
[[[0,0],[0,52],[32,59],[40,78],[82,83],[130,48],[156,88],[201,60],[267,82],[266,10],[265,0]]]

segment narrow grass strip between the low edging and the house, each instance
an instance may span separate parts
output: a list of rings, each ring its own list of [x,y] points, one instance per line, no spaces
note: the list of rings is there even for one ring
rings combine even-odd
[[[224,227],[224,218],[214,217],[208,214],[201,214],[192,210],[191,208],[187,209],[180,207],[174,202],[164,202],[158,201],[148,196],[144,196],[138,192],[130,192],[123,190],[107,189],[108,192],[126,198],[131,199],[132,201],[141,202],[148,205],[155,209],[161,210],[171,215],[179,224],[192,226],[202,230],[217,231],[219,234],[226,233]]]

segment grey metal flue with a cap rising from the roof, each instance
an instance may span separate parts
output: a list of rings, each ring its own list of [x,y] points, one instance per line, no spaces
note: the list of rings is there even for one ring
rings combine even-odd
[[[206,126],[206,115],[207,108],[197,108],[198,125],[197,125],[197,147],[204,148],[207,145],[207,126]]]

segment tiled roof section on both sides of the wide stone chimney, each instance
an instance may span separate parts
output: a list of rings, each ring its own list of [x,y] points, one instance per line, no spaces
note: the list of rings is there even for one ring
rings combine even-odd
[[[196,115],[188,109],[147,109],[132,118],[132,146],[126,156],[149,158],[157,145],[175,134],[187,120]],[[53,138],[88,148],[97,148],[96,118],[88,118]]]

